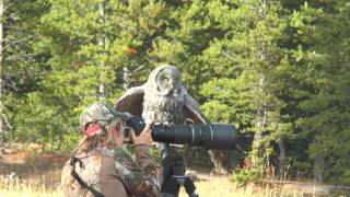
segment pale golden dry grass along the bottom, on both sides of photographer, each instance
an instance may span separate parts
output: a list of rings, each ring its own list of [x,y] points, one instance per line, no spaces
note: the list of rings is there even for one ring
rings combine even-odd
[[[62,196],[59,186],[59,172],[50,173],[50,177],[33,175],[30,179],[21,179],[15,174],[0,175],[0,196],[7,197],[58,197]],[[278,187],[236,187],[225,176],[200,175],[200,179],[195,182],[196,192],[200,197],[279,197],[304,196],[296,189],[283,189]],[[185,189],[180,188],[179,197],[187,197]]]

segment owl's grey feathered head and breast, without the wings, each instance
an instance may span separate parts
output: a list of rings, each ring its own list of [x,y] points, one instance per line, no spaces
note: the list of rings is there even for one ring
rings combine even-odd
[[[184,124],[184,96],[179,70],[173,66],[154,69],[144,84],[142,118],[145,123]]]

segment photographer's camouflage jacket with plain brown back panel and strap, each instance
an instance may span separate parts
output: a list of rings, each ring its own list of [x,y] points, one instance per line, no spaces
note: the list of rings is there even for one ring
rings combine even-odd
[[[75,158],[80,159],[82,163],[82,165],[75,163],[77,174],[86,185],[103,193],[105,197],[160,196],[158,172],[148,146],[136,146],[136,161],[122,149],[112,151],[106,148],[96,148],[88,153],[77,154]],[[105,167],[106,159],[113,161],[113,167]],[[62,170],[63,195],[70,197],[94,196],[88,189],[83,189],[71,175],[72,169],[70,161],[68,161]],[[107,192],[103,189],[107,184],[104,184],[106,178],[102,174],[108,174],[107,179],[113,179],[113,185],[107,187]]]

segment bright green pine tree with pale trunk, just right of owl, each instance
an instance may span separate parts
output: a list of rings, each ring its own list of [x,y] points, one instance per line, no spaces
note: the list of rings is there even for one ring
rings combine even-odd
[[[285,19],[276,1],[214,1],[210,9],[225,36],[213,39],[200,59],[206,73],[213,76],[202,86],[203,109],[215,121],[256,132],[250,157],[262,175],[278,152],[272,144],[291,132],[279,113],[283,103],[271,80],[283,59],[278,43]]]

